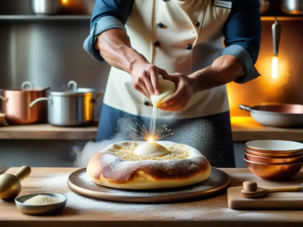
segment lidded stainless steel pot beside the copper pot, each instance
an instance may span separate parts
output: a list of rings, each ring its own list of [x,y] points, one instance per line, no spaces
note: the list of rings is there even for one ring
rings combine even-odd
[[[72,85],[73,88],[72,88]],[[42,100],[48,101],[48,123],[59,127],[86,126],[94,122],[95,101],[104,91],[94,96],[95,90],[78,88],[75,81],[69,81],[68,89],[50,90],[48,97],[34,100],[32,107]]]

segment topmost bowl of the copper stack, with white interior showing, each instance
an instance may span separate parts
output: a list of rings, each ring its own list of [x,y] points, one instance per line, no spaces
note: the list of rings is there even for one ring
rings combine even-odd
[[[287,140],[255,140],[245,143],[247,150],[260,153],[289,154],[303,150],[303,144]]]

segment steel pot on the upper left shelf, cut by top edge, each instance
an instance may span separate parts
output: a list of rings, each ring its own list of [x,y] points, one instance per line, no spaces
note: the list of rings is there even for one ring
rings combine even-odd
[[[34,14],[51,15],[62,10],[62,0],[29,0]]]

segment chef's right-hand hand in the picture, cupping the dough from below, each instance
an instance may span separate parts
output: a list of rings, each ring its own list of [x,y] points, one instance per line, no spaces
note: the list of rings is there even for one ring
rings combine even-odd
[[[194,94],[194,80],[181,73],[166,75],[163,76],[163,79],[174,82],[177,89],[175,93],[164,103],[161,103],[158,108],[166,111],[182,110]]]

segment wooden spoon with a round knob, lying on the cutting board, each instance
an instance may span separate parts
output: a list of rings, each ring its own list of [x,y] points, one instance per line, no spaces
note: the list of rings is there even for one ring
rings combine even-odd
[[[300,192],[303,189],[303,183],[297,186],[284,186],[274,188],[261,188],[258,187],[256,182],[245,181],[243,182],[243,189],[241,190],[242,196],[245,198],[258,198],[265,196],[268,193],[274,192]]]

